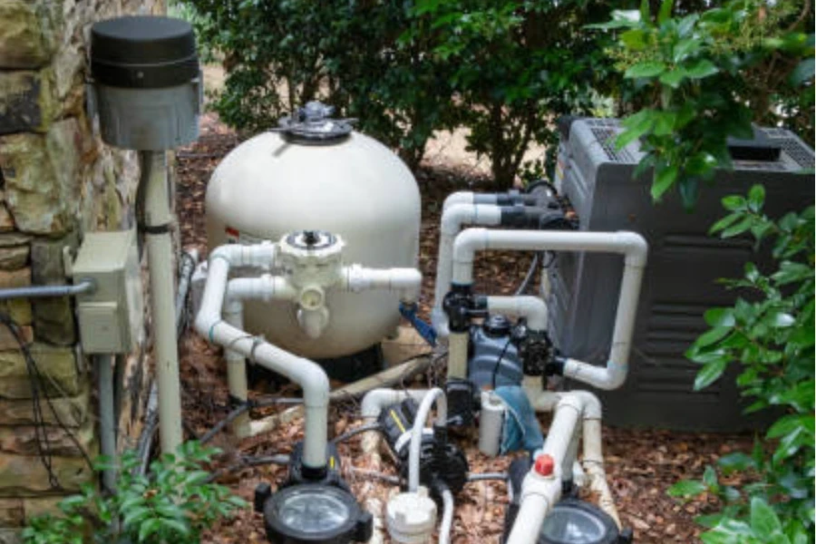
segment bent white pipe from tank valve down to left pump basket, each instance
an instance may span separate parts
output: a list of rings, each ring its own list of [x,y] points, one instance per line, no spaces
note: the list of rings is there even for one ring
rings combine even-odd
[[[195,327],[200,335],[214,344],[248,357],[270,370],[285,375],[303,389],[305,412],[304,464],[310,468],[325,467],[329,381],[320,365],[248,335],[221,319],[221,306],[227,291],[229,268],[274,265],[274,245],[228,245],[213,250],[209,273],[201,297]]]

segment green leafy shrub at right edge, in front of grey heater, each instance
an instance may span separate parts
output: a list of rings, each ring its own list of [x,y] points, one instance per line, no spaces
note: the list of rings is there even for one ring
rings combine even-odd
[[[748,264],[742,279],[728,281],[745,296],[733,307],[708,310],[711,328],[686,354],[702,364],[695,390],[739,364],[737,385],[753,401],[746,412],[770,409],[778,415],[750,455],[726,455],[706,468],[702,481],[681,481],[670,491],[683,497],[708,492],[722,501],[720,513],[699,520],[710,528],[706,543],[813,542],[813,207],[773,220],[763,214],[763,201],[760,185],[747,198],[725,198],[730,213],[712,232],[722,238],[750,233],[757,246],[771,244],[775,269],[763,272]],[[721,481],[735,472],[750,483],[735,487]]]

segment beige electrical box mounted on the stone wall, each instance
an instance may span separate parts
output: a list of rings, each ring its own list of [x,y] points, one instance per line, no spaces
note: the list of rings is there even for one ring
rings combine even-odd
[[[143,307],[136,231],[90,232],[73,262],[73,281],[91,279],[92,293],[77,297],[86,354],[127,354],[141,341]]]

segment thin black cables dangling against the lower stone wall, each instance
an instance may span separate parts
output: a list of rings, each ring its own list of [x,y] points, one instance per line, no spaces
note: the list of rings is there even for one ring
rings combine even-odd
[[[15,320],[5,313],[0,313],[0,323],[5,325],[8,332],[15,338],[15,342],[20,347],[20,352],[23,354],[25,371],[28,374],[28,380],[31,383],[31,403],[32,412],[34,415],[34,436],[37,442],[37,453],[40,456],[40,460],[43,462],[45,471],[48,472],[48,483],[53,489],[62,489],[60,481],[53,472],[51,442],[48,438],[47,425],[44,420],[43,406],[40,399],[41,393],[45,399],[45,403],[48,404],[48,407],[53,414],[54,421],[56,421],[57,425],[68,436],[69,440],[73,442],[73,445],[76,446],[76,449],[80,452],[91,471],[93,471],[93,463],[91,458],[88,456],[88,452],[85,452],[82,443],[79,442],[71,429],[68,428],[65,423],[63,423],[63,420],[60,418],[60,414],[57,412],[51,401],[51,397],[48,396],[48,393],[45,390],[44,376],[40,372],[40,368],[37,366],[37,362],[34,360],[34,357],[31,355],[28,345],[25,344],[23,336],[20,334],[20,325],[17,325]]]

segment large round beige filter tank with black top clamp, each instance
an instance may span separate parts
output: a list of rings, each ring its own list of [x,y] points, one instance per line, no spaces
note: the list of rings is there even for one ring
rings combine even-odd
[[[346,265],[416,266],[421,205],[411,171],[329,112],[310,102],[280,131],[245,141],[221,161],[207,188],[210,248],[325,230],[344,239]],[[326,306],[330,322],[316,339],[288,302],[248,301],[245,326],[297,355],[330,358],[360,352],[399,324],[399,299],[389,293],[331,292]]]

